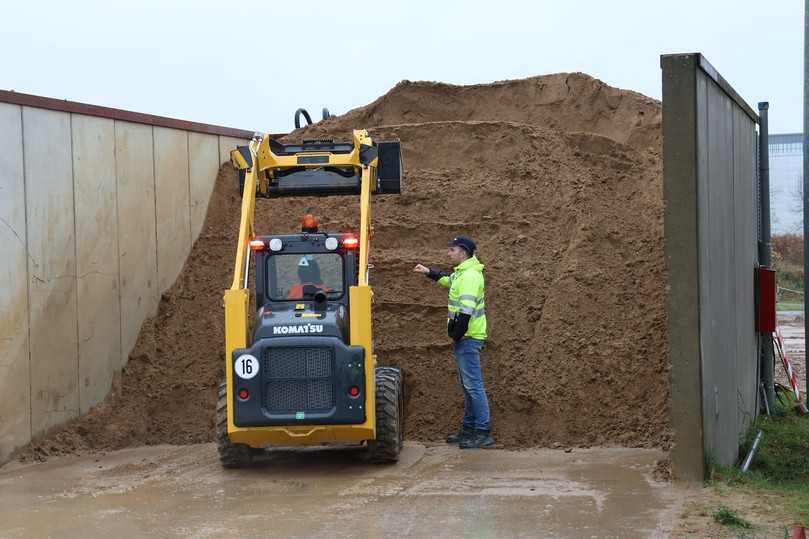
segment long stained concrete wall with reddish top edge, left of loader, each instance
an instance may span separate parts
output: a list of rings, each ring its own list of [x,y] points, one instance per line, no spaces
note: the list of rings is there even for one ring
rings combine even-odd
[[[0,102],[0,463],[107,395],[245,140],[34,97]]]

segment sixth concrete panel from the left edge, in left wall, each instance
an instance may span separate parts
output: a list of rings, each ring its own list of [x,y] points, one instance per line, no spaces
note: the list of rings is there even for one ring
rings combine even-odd
[[[188,169],[191,182],[191,241],[196,241],[205,222],[216,175],[219,172],[219,138],[188,134]]]

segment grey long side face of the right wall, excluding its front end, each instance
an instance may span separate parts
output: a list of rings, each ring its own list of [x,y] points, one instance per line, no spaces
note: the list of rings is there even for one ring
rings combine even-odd
[[[756,415],[756,126],[709,73],[697,84],[705,451],[728,465]]]

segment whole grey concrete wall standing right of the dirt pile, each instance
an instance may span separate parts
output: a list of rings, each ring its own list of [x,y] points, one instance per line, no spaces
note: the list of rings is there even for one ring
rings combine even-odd
[[[672,469],[702,481],[757,414],[758,116],[702,55],[662,67]]]

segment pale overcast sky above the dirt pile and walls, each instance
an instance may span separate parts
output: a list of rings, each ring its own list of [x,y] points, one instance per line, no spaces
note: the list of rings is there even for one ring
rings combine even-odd
[[[698,51],[771,132],[803,125],[799,0],[0,0],[0,51],[0,89],[270,132],[402,79],[583,71],[660,99],[660,54]]]

